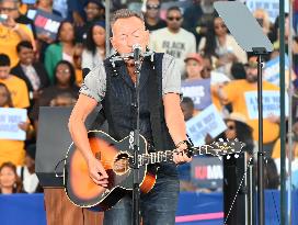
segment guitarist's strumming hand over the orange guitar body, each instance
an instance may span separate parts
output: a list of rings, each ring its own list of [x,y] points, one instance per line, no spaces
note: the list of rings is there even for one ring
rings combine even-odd
[[[93,182],[98,185],[102,185],[104,188],[107,188],[107,173],[105,169],[103,168],[103,165],[99,159],[94,157],[90,157],[88,159],[88,168],[89,168],[89,175],[92,178]]]

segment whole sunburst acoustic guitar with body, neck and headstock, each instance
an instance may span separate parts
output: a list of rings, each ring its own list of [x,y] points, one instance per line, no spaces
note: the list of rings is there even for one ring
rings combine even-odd
[[[125,194],[133,191],[131,161],[134,156],[134,133],[117,142],[101,131],[88,133],[93,155],[108,175],[107,188],[98,185],[89,176],[88,165],[80,150],[70,145],[65,160],[64,183],[69,200],[80,207],[106,211],[113,207]],[[148,193],[156,183],[156,171],[150,165],[173,160],[175,150],[147,151],[147,142],[140,135],[139,178],[140,191]],[[210,145],[192,147],[188,155],[213,155],[216,157],[241,153],[240,142],[215,142]]]

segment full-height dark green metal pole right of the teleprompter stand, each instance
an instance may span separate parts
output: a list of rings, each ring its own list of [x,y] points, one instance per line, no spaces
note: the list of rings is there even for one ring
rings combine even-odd
[[[279,1],[279,74],[280,74],[280,224],[286,223],[286,139],[285,139],[285,0]]]

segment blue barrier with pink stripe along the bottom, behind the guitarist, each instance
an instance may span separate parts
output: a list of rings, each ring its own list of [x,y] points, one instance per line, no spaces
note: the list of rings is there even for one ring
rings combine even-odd
[[[266,224],[279,225],[279,192],[265,191]],[[298,191],[293,194],[293,212],[298,212]],[[278,214],[277,214],[278,213]],[[46,225],[43,194],[0,195],[1,225]],[[222,225],[222,193],[182,192],[176,225]],[[293,224],[298,215],[293,213]]]

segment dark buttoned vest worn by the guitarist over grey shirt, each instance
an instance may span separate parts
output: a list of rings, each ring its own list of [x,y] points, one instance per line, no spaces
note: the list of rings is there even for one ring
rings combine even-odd
[[[169,134],[162,103],[163,54],[145,57],[140,71],[140,134],[156,149],[169,150],[174,143]],[[102,101],[108,123],[108,134],[115,139],[129,135],[136,127],[136,89],[124,61],[112,65],[111,57],[104,60],[106,92]]]

